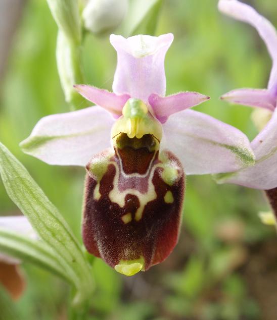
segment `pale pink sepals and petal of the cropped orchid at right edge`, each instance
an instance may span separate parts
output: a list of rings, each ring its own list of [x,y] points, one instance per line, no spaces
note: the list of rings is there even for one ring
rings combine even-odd
[[[237,0],[220,0],[221,12],[247,22],[257,29],[272,58],[272,69],[267,89],[237,89],[221,98],[233,103],[269,110],[271,119],[251,142],[255,165],[231,174],[219,176],[219,182],[228,182],[250,188],[268,190],[277,187],[277,32],[269,21],[250,6]]]

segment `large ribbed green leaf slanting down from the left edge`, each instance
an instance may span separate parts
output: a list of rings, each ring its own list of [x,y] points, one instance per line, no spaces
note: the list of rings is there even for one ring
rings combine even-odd
[[[80,245],[58,209],[2,143],[0,175],[10,198],[28,218],[39,237],[52,248],[64,273],[74,283],[77,294],[73,302],[76,305],[84,303],[90,298],[94,283]]]

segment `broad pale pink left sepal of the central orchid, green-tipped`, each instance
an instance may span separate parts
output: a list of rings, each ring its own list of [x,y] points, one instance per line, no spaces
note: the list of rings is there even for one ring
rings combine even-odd
[[[100,106],[44,117],[21,142],[25,153],[51,165],[85,166],[89,159],[110,147],[115,122]]]

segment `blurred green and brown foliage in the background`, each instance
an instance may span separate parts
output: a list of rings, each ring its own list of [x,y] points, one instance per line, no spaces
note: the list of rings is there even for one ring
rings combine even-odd
[[[245,2],[277,26],[274,0]],[[252,139],[257,133],[252,110],[218,97],[234,88],[266,87],[271,62],[255,30],[219,14],[216,0],[166,0],[156,34],[167,32],[175,37],[165,61],[167,94],[191,90],[210,95],[210,101],[195,109]],[[41,117],[68,112],[56,68],[56,34],[47,3],[29,0],[0,87],[0,140],[81,239],[84,169],[49,166],[18,146]],[[111,89],[116,52],[109,37],[87,34],[82,58],[86,83]],[[211,176],[188,177],[183,225],[173,253],[132,278],[95,259],[97,289],[90,319],[276,319],[277,239],[274,228],[262,225],[257,216],[267,209],[260,191],[217,185]],[[0,183],[0,215],[15,214],[20,212]],[[21,320],[66,319],[68,286],[30,264],[23,269],[28,284],[19,301],[12,302],[0,288],[0,318],[6,308]]]

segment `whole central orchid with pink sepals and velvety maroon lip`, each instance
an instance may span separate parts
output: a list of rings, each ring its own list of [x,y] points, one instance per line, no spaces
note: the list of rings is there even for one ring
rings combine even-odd
[[[85,247],[127,276],[163,261],[176,245],[184,171],[233,172],[254,161],[241,131],[186,110],[209,97],[165,96],[172,40],[111,35],[118,58],[113,92],[76,85],[97,105],[42,118],[21,143],[49,164],[86,166]]]

